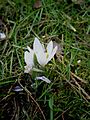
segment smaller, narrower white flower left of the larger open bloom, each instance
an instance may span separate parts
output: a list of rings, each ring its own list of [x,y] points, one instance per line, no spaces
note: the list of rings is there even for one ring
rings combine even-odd
[[[34,51],[27,46],[28,51],[24,53],[24,60],[26,63],[25,66],[25,73],[29,73],[30,70],[32,70],[32,67],[34,66]]]

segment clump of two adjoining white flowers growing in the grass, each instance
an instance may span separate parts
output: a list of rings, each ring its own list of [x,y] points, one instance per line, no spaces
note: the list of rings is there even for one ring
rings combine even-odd
[[[50,41],[46,47],[40,43],[40,41],[35,38],[33,43],[33,50],[27,47],[28,51],[25,52],[25,73],[29,73],[34,66],[34,55],[36,55],[37,61],[41,66],[45,66],[56,54],[57,46],[53,48],[53,42]]]

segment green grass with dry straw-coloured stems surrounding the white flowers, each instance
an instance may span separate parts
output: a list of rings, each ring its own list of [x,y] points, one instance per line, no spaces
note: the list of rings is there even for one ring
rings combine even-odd
[[[89,0],[3,0],[0,2],[0,119],[1,120],[89,120],[90,119],[90,11]],[[1,27],[0,27],[1,28]],[[35,81],[25,74],[24,51],[34,38],[50,40],[62,47],[44,68],[52,82]],[[77,61],[81,62],[78,63]],[[24,90],[14,92],[20,85]]]

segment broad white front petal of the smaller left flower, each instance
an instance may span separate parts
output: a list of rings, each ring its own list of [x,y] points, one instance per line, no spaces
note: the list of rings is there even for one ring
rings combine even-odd
[[[33,50],[31,50],[30,52],[26,51],[24,53],[24,59],[26,64],[32,67],[34,65],[34,51]]]

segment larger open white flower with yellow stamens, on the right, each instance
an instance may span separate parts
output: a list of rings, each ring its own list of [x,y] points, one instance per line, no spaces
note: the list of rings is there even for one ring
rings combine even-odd
[[[46,51],[40,41],[35,38],[33,44],[34,53],[40,65],[45,66],[56,54],[57,46],[53,48],[53,42],[50,41],[47,45]]]

